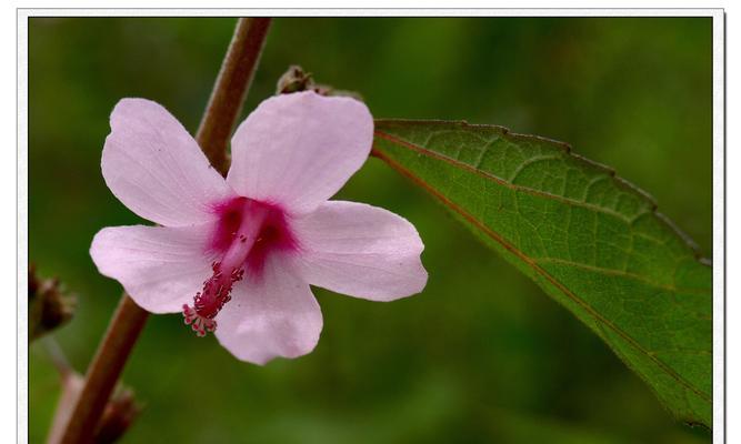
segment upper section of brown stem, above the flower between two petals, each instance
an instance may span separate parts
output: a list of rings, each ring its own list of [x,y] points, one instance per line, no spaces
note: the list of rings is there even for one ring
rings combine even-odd
[[[229,168],[224,148],[260,60],[270,22],[270,18],[239,19],[206,114],[196,133],[196,140],[206,157],[222,174]]]

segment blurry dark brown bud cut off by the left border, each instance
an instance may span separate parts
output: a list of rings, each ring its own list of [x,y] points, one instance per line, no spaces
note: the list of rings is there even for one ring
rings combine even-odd
[[[36,266],[28,270],[29,341],[63,325],[74,313],[77,299],[66,294],[59,279],[41,280]]]

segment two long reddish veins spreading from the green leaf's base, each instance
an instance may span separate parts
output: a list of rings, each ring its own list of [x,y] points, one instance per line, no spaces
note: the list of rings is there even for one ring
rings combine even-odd
[[[564,198],[561,198],[561,196],[557,196],[557,195],[553,195],[553,194],[550,194],[550,193],[547,193],[547,192],[542,192],[542,191],[538,191],[538,190],[533,190],[533,189],[529,189],[529,188],[523,188],[523,186],[519,186],[519,185],[511,184],[511,183],[509,183],[509,182],[502,180],[501,178],[497,178],[497,176],[493,175],[493,174],[488,174],[488,173],[485,173],[485,172],[483,172],[483,171],[481,171],[481,170],[477,170],[477,169],[472,168],[471,165],[467,165],[467,164],[463,163],[463,162],[460,162],[460,161],[453,160],[453,159],[451,159],[451,158],[448,158],[448,157],[445,157],[445,155],[435,153],[435,152],[430,151],[430,150],[428,150],[428,149],[425,149],[425,148],[423,148],[423,147],[418,147],[418,145],[415,145],[415,144],[413,144],[413,143],[410,143],[410,142],[408,142],[408,141],[397,139],[397,138],[394,138],[393,135],[390,135],[390,134],[384,133],[384,132],[382,132],[382,131],[375,130],[375,131],[374,131],[374,134],[375,134],[377,137],[381,138],[381,139],[384,139],[384,140],[389,141],[389,142],[399,143],[399,144],[401,144],[401,145],[403,145],[403,147],[405,147],[405,148],[412,149],[412,150],[414,150],[415,152],[418,152],[418,153],[420,153],[420,154],[422,154],[422,155],[427,155],[427,157],[429,157],[429,158],[438,159],[438,160],[444,161],[444,162],[447,162],[447,163],[449,163],[449,164],[451,164],[451,165],[453,165],[453,167],[461,168],[461,169],[465,169],[465,170],[469,170],[469,171],[471,171],[471,172],[474,172],[474,173],[481,175],[481,176],[484,178],[484,179],[494,181],[494,182],[497,182],[497,183],[499,183],[499,184],[502,184],[502,185],[504,185],[504,186],[508,186],[508,188],[510,188],[510,189],[512,189],[512,190],[515,190],[515,191],[522,191],[522,192],[527,192],[527,193],[530,193],[530,194],[534,194],[534,195],[539,195],[539,196],[543,196],[543,198],[548,198],[548,199],[555,199],[555,200],[564,201],[564,202],[572,203],[572,204],[582,204],[582,205],[583,205],[582,202],[571,201],[571,200],[569,200],[569,199],[564,199]],[[561,291],[567,297],[569,297],[572,302],[574,302],[574,303],[578,304],[579,306],[581,306],[581,307],[582,307],[589,315],[591,315],[595,321],[598,321],[598,323],[602,323],[602,325],[605,325],[605,326],[610,327],[615,334],[618,334],[618,335],[619,335],[620,337],[622,337],[625,342],[628,342],[630,345],[632,345],[635,350],[638,350],[640,353],[642,353],[645,357],[648,357],[650,361],[652,361],[659,369],[661,369],[664,373],[667,373],[670,377],[672,377],[672,379],[673,379],[674,381],[677,381],[679,384],[681,384],[681,385],[684,386],[687,390],[690,390],[691,392],[693,392],[694,394],[697,394],[697,395],[698,395],[701,400],[703,400],[704,402],[707,402],[707,403],[710,403],[710,402],[711,402],[711,398],[710,398],[710,395],[709,395],[709,394],[704,393],[702,390],[695,387],[695,386],[692,385],[689,381],[684,380],[684,377],[682,377],[680,374],[678,374],[672,367],[670,367],[668,364],[665,364],[664,362],[662,362],[661,360],[659,360],[658,357],[655,357],[655,356],[653,355],[653,353],[651,353],[651,352],[649,352],[648,350],[643,349],[643,346],[642,346],[638,341],[635,341],[630,334],[625,333],[623,330],[621,330],[620,327],[618,327],[617,325],[614,325],[612,322],[610,322],[608,319],[603,317],[600,313],[598,313],[597,311],[594,311],[594,310],[591,307],[591,305],[589,305],[584,300],[582,300],[582,299],[579,297],[577,294],[574,294],[573,292],[571,292],[571,291],[570,291],[568,287],[565,287],[565,286],[558,280],[558,279],[555,279],[553,275],[551,275],[551,274],[548,273],[545,270],[543,270],[540,265],[538,265],[538,263],[535,263],[534,260],[533,260],[532,258],[528,256],[528,255],[524,254],[522,251],[520,251],[518,248],[515,248],[514,245],[510,244],[510,243],[509,243],[508,241],[505,241],[502,236],[500,236],[497,232],[494,232],[494,231],[491,230],[489,226],[487,226],[487,225],[484,225],[483,223],[481,223],[475,216],[473,216],[472,214],[470,214],[469,212],[467,212],[465,210],[463,210],[463,209],[462,209],[460,205],[458,205],[457,203],[452,202],[452,201],[451,201],[450,199],[448,199],[444,194],[438,192],[434,188],[430,186],[430,185],[429,185],[427,182],[424,182],[421,178],[419,178],[418,175],[413,174],[410,170],[408,170],[407,168],[404,168],[403,165],[401,165],[399,162],[397,162],[397,161],[394,161],[393,159],[391,159],[389,155],[387,155],[387,154],[383,153],[382,151],[380,151],[380,150],[373,148],[372,151],[371,151],[371,155],[375,155],[377,158],[383,160],[383,161],[387,162],[390,167],[392,167],[393,169],[398,170],[401,174],[403,174],[403,175],[405,175],[407,178],[411,179],[412,181],[417,182],[417,183],[418,183],[420,186],[422,186],[424,190],[427,190],[428,192],[430,192],[432,195],[434,195],[434,196],[438,198],[440,201],[442,201],[445,205],[448,205],[448,206],[451,208],[453,211],[455,211],[455,212],[459,213],[461,216],[463,216],[467,221],[469,221],[469,223],[471,223],[471,224],[473,224],[474,226],[477,226],[478,229],[480,229],[480,230],[481,230],[483,233],[485,233],[489,238],[491,238],[492,240],[494,240],[495,242],[498,242],[500,245],[502,245],[504,249],[507,249],[507,250],[510,251],[512,254],[514,254],[514,255],[518,256],[520,260],[522,260],[522,262],[524,262],[528,266],[530,266],[535,273],[540,274],[542,278],[544,278],[545,280],[548,280],[553,286],[555,286],[559,291]],[[589,204],[588,204],[588,205],[589,205]],[[594,206],[594,205],[590,205],[590,206],[593,206],[593,209],[594,209],[595,211],[602,211],[602,210],[603,210],[603,209],[600,209],[599,206]],[[621,216],[622,216],[622,215],[621,215]],[[623,216],[623,218],[624,218],[624,216]]]

